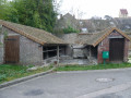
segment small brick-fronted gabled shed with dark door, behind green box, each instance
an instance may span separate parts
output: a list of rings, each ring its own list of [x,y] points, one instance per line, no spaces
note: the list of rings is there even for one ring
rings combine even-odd
[[[94,34],[83,44],[90,48],[90,57],[97,58],[103,63],[103,51],[109,51],[107,62],[127,62],[130,37],[116,27],[109,27],[100,33]]]

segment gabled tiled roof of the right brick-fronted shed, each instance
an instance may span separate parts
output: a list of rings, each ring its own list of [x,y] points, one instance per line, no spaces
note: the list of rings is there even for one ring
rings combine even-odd
[[[81,44],[85,44],[85,45],[92,45],[92,46],[97,46],[102,40],[104,40],[109,34],[112,33],[112,30],[117,30],[118,33],[120,33],[123,37],[126,37],[127,39],[131,40],[131,38],[122,33],[120,29],[116,28],[116,27],[108,27],[106,29],[104,29],[103,32],[99,33],[95,33],[92,36],[85,38],[85,40],[81,41]]]

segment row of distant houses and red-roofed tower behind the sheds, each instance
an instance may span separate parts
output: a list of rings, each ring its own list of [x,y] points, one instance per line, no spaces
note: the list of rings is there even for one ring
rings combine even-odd
[[[119,13],[119,17],[105,15],[105,19],[92,17],[88,20],[75,19],[74,15],[67,13],[66,15],[61,15],[57,21],[55,30],[59,29],[57,33],[60,32],[59,34],[61,34],[63,28],[71,26],[75,29],[79,29],[80,33],[97,33],[107,27],[116,26],[123,32],[131,32],[131,17],[128,16],[127,9],[121,9]]]

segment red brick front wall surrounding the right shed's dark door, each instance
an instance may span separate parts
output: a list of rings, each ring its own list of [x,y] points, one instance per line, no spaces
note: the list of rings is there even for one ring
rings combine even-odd
[[[97,60],[98,63],[103,63],[103,51],[109,51],[109,38],[122,38],[122,36],[119,33],[111,33],[108,37],[106,37],[99,45],[98,45],[98,54]],[[124,38],[124,52],[123,52],[123,61],[128,61],[128,49],[129,49],[129,40]],[[109,62],[109,59],[106,60]]]

